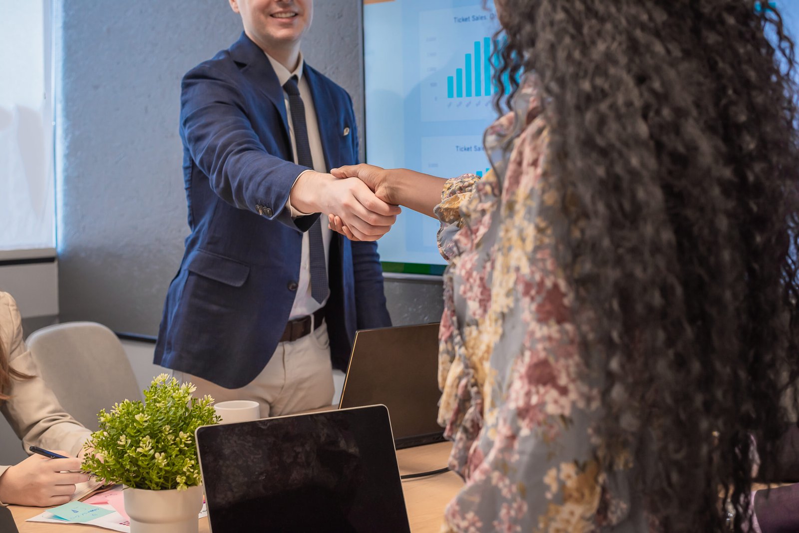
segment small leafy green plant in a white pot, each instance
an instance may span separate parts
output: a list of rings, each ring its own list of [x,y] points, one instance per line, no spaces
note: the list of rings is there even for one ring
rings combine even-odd
[[[85,444],[83,469],[127,485],[131,533],[197,533],[202,480],[194,430],[216,424],[213,398],[162,373],[145,401],[125,400],[98,413],[100,429]]]

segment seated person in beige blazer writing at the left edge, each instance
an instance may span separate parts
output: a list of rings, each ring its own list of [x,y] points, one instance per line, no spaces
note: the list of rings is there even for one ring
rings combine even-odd
[[[22,341],[17,302],[0,291],[0,411],[27,450],[31,444],[70,459],[33,455],[0,466],[0,503],[51,506],[70,501],[75,484],[87,480],[76,458],[91,432],[64,413]]]

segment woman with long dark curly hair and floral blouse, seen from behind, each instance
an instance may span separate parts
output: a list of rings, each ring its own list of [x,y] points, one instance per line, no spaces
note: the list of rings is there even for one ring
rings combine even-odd
[[[492,172],[336,171],[443,223],[439,421],[466,480],[446,527],[704,533],[733,509],[745,531],[757,457],[799,463],[779,444],[799,377],[781,16],[753,0],[496,7],[495,82],[513,90],[484,138]]]

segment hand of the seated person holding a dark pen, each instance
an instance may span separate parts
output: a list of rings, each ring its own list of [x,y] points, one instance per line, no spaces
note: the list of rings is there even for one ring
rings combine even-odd
[[[57,453],[67,455],[67,452]],[[80,469],[81,460],[78,458],[30,456],[0,476],[0,501],[37,507],[62,505],[72,498],[75,484],[89,480],[83,472],[70,472]]]

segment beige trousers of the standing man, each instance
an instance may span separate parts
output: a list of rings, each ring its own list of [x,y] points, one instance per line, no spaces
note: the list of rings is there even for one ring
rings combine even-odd
[[[225,389],[189,373],[173,371],[179,381],[197,386],[196,397],[210,394],[214,401],[252,400],[260,417],[276,417],[331,405],[333,374],[328,325],[294,342],[280,342],[264,369],[240,389]]]

